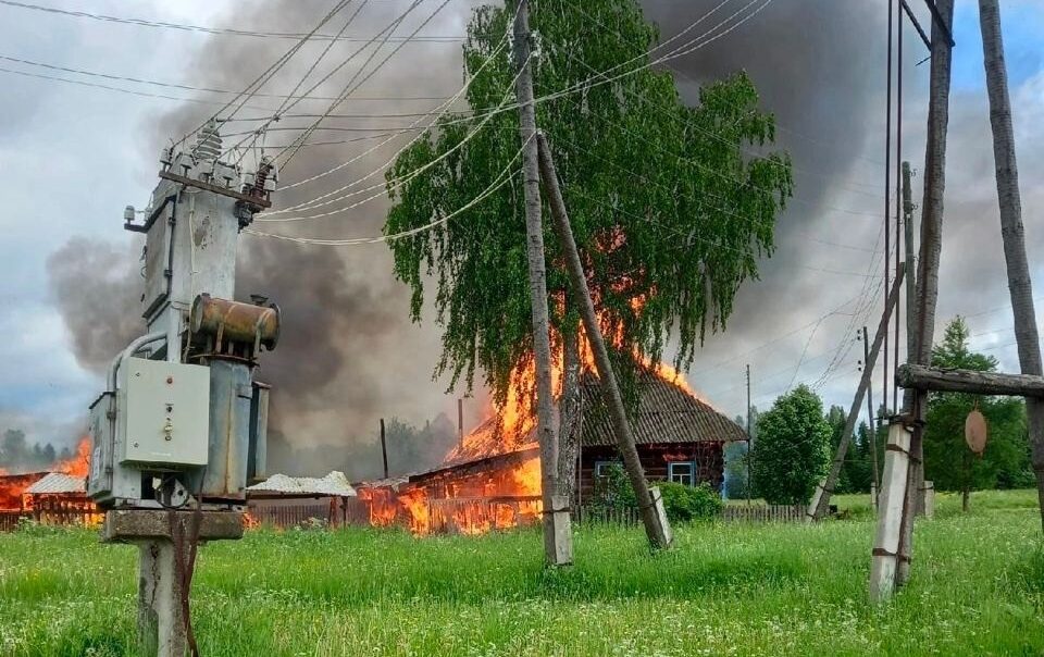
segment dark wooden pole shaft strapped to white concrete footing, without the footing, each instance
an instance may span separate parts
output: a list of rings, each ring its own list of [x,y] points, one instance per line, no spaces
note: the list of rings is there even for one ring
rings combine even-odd
[[[954,0],[935,0],[939,18],[946,27],[954,24]],[[953,51],[949,29],[932,20],[932,69],[929,83],[928,139],[924,145],[924,196],[921,201],[921,248],[917,262],[917,351],[910,362],[929,364],[932,338],[935,333],[935,306],[939,301],[939,258],[943,249],[943,196],[946,191],[946,132],[949,127],[949,86]],[[903,532],[899,541],[899,563],[895,583],[903,585],[910,578],[913,558],[913,518],[918,473],[923,463],[923,420],[928,411],[928,394],[919,391],[913,397],[915,423],[910,437],[907,504],[903,510]]]

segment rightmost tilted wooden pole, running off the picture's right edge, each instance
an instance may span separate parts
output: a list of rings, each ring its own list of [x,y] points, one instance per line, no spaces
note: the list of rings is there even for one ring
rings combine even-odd
[[[997,199],[1000,206],[1000,236],[1004,260],[1008,269],[1008,292],[1015,313],[1015,339],[1019,347],[1019,364],[1023,374],[1041,375],[1041,342],[1033,308],[1033,283],[1026,257],[1022,227],[1022,201],[1019,196],[1019,168],[1015,159],[1015,132],[1011,126],[1011,101],[1008,98],[1008,74],[1004,63],[1004,40],[1000,36],[1000,7],[997,0],[979,0],[979,24],[982,28],[982,54],[986,69],[986,91],[990,95],[990,125],[993,128],[993,157],[996,163]],[[1044,530],[1044,400],[1028,398],[1031,459],[1036,473],[1041,528]]]

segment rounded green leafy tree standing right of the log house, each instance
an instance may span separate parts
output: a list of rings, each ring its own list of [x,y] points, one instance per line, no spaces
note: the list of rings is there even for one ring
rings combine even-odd
[[[758,418],[750,476],[769,504],[807,504],[830,460],[830,423],[808,386],[779,397]]]

